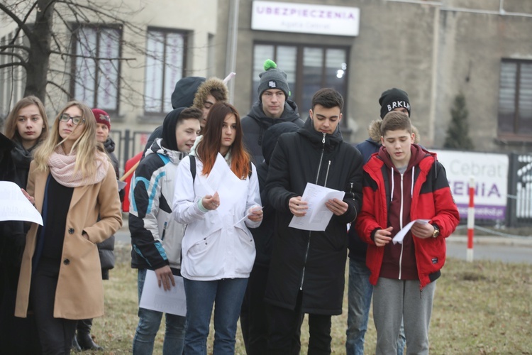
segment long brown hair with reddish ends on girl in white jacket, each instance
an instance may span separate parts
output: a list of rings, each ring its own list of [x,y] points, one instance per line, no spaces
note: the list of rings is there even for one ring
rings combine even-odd
[[[236,119],[235,141],[231,146],[231,170],[238,178],[245,178],[250,173],[250,155],[245,151],[242,142],[243,133],[240,125],[240,115],[233,105],[227,102],[216,102],[211,107],[209,115],[207,115],[205,133],[196,148],[198,158],[203,163],[201,173],[204,175],[211,173],[214,162],[216,162],[216,155],[218,155],[221,148],[223,121],[230,114],[233,114]]]

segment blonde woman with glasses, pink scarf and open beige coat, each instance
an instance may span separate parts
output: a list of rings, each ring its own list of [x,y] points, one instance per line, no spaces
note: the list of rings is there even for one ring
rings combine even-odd
[[[43,226],[26,236],[15,315],[35,314],[43,354],[70,354],[76,320],[104,314],[96,243],[122,219],[115,172],[95,134],[89,107],[69,102],[30,166],[27,197]]]

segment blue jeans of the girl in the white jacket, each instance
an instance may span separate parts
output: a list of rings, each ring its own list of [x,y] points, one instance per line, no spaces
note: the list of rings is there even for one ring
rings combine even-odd
[[[235,353],[236,322],[247,285],[247,278],[224,278],[213,281],[184,279],[184,292],[187,295],[184,354],[207,353],[206,344],[213,304],[213,354]]]

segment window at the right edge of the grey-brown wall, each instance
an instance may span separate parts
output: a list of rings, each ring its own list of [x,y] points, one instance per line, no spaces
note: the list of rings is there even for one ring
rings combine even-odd
[[[532,60],[501,61],[499,138],[532,140]]]

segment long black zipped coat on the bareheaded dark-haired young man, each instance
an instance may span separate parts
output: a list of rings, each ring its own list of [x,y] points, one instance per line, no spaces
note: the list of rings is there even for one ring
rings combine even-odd
[[[325,231],[290,228],[289,200],[303,195],[307,182],[345,191],[348,210],[331,218]],[[362,155],[333,135],[314,130],[307,119],[297,133],[282,135],[270,159],[267,186],[277,211],[266,302],[294,309],[303,293],[302,312],[340,315],[342,312],[347,224],[362,204]]]

